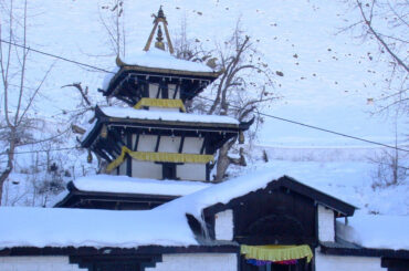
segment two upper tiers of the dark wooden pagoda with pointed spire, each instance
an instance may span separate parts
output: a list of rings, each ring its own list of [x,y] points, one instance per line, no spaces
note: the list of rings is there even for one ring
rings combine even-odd
[[[105,80],[101,92],[127,107],[96,107],[82,147],[105,159],[106,171],[113,175],[209,181],[216,152],[251,122],[186,112],[185,104],[220,72],[170,54],[174,49],[161,9],[144,50],[132,60],[117,58],[118,71]]]

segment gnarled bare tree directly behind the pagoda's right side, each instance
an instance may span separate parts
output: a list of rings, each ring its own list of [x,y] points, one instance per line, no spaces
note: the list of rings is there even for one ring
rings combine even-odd
[[[186,29],[182,29],[182,32]],[[182,37],[182,42],[176,42],[176,54],[179,58],[207,62],[213,69],[222,71],[220,77],[208,90],[206,98],[198,97],[190,105],[190,111],[209,115],[233,116],[239,121],[255,118],[255,127],[250,132],[254,136],[262,117],[260,111],[266,102],[279,98],[273,88],[273,73],[263,62],[249,35],[245,35],[238,21],[233,34],[217,45],[214,50],[204,51],[201,46],[191,45]],[[182,46],[181,46],[182,45]],[[235,145],[237,137],[227,142],[217,158],[214,181],[222,181],[230,165],[245,166],[244,150],[239,149],[239,157],[229,155]]]

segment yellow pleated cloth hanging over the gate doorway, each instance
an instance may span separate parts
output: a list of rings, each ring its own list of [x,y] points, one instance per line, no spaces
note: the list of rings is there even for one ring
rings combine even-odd
[[[256,259],[263,261],[287,261],[306,258],[307,262],[313,258],[313,252],[307,244],[301,246],[245,246],[240,248],[245,259]]]

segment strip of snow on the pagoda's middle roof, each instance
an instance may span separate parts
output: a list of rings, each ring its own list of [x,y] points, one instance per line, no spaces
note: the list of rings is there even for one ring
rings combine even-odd
[[[118,118],[239,125],[239,121],[229,116],[196,115],[168,111],[144,111],[117,106],[101,107],[101,110],[105,115]]]

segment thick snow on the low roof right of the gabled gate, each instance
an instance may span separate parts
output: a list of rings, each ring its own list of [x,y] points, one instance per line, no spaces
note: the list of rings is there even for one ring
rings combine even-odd
[[[367,215],[358,211],[354,217],[338,219],[337,236],[345,241],[370,249],[409,250],[409,217]]]

